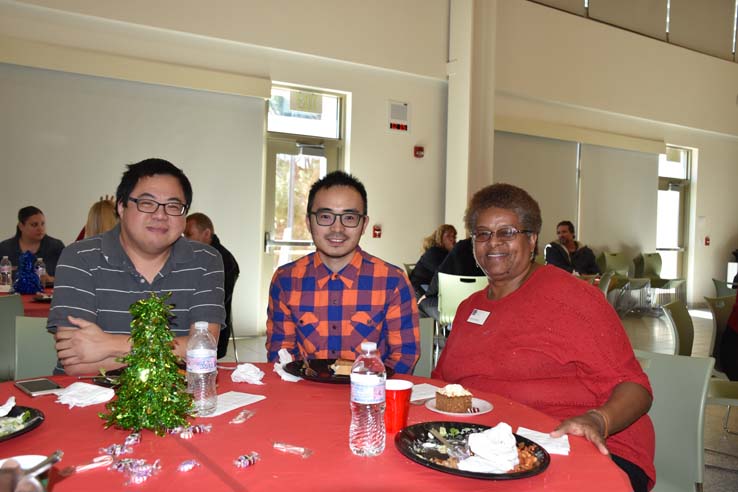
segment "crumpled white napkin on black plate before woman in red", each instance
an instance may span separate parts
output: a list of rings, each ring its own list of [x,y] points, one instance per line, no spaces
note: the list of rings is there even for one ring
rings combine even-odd
[[[505,473],[517,465],[518,447],[512,427],[500,422],[484,432],[469,435],[469,449],[475,456],[459,462],[459,470]]]

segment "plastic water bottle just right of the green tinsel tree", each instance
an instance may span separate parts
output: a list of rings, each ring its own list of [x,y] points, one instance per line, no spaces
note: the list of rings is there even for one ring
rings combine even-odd
[[[218,402],[216,356],[215,339],[207,322],[196,322],[195,332],[187,342],[187,392],[192,393],[192,410],[197,415],[210,415]]]

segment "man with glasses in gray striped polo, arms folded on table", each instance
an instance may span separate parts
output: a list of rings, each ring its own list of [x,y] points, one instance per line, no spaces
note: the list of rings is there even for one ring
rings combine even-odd
[[[131,164],[116,191],[120,223],[64,249],[57,264],[48,328],[55,332],[56,373],[97,373],[122,366],[131,348],[131,304],[171,293],[174,352],[184,357],[196,321],[217,340],[225,320],[223,261],[212,247],[184,237],[192,186],[163,159]]]

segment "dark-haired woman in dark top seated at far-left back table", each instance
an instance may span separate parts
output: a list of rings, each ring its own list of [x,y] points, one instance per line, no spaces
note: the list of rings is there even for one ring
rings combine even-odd
[[[18,210],[15,236],[0,243],[0,258],[7,256],[14,270],[18,268],[20,255],[26,251],[33,253],[36,258],[43,258],[46,275],[41,282],[48,284],[54,282],[56,263],[63,249],[64,243],[46,234],[46,217],[41,209],[28,206]]]

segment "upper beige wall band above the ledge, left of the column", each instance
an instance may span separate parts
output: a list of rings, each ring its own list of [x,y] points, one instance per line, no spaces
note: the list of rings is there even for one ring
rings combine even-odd
[[[445,78],[448,0],[20,0],[19,3]]]

